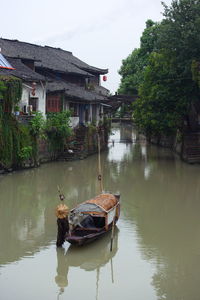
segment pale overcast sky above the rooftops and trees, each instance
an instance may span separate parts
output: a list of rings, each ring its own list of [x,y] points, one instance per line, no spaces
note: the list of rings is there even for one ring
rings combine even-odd
[[[114,93],[122,59],[139,47],[146,20],[160,21],[162,12],[160,0],[2,1],[0,36],[60,47],[90,65],[108,68],[102,85]]]

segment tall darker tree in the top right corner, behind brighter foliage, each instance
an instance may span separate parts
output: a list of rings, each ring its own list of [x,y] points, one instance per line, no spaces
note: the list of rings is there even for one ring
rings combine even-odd
[[[193,63],[200,61],[200,2],[173,0],[164,6],[164,19],[157,42],[159,51],[165,49],[175,57],[173,78],[182,80],[183,95],[190,103],[199,101],[199,88],[193,77]]]

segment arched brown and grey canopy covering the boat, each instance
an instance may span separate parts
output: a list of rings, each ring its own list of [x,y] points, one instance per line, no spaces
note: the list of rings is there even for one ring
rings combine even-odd
[[[72,211],[73,213],[95,212],[102,213],[108,212],[118,203],[118,199],[112,194],[100,194],[93,199],[87,200]]]

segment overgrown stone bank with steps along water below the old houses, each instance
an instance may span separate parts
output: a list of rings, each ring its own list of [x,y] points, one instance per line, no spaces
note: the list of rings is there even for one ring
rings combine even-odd
[[[107,148],[110,123],[105,122],[100,126],[80,125],[73,130],[73,133],[66,139],[63,149],[53,151],[49,141],[45,138],[37,139],[37,158],[25,159],[21,165],[11,165],[9,168],[0,166],[0,174],[39,167],[43,163],[52,161],[72,161],[85,159],[89,155],[98,152],[97,131],[100,137],[101,150]]]

